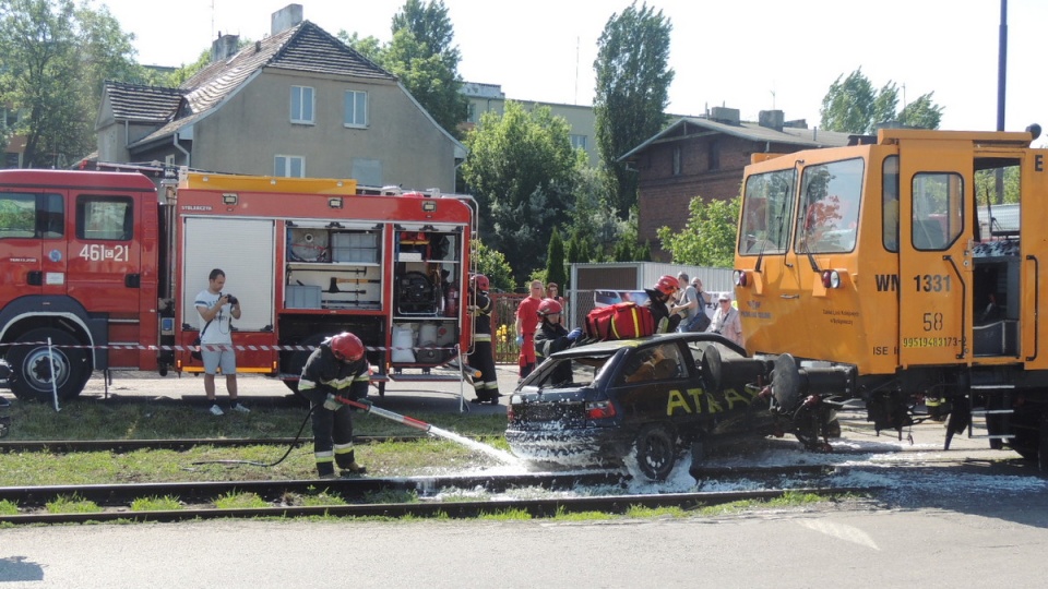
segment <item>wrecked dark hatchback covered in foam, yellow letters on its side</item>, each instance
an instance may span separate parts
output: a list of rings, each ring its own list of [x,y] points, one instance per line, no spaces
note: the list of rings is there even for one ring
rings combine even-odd
[[[528,460],[584,466],[635,459],[645,477],[665,480],[686,450],[701,458],[726,437],[796,433],[795,414],[778,409],[763,382],[769,368],[715,334],[572,348],[517,385],[505,437]],[[822,412],[819,420],[834,417]]]

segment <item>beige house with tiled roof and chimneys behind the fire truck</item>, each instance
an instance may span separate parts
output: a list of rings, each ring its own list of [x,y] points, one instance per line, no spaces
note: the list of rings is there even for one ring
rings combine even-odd
[[[300,4],[238,44],[219,36],[211,64],[178,88],[107,83],[98,160],[454,191],[462,143],[396,76],[302,20]]]

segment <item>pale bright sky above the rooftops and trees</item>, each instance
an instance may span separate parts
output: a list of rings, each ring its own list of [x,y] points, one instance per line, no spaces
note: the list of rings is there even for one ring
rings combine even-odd
[[[195,61],[219,33],[257,40],[287,0],[87,0],[135,36],[143,64]],[[391,39],[404,0],[299,0],[329,33]],[[629,0],[444,0],[466,82],[501,85],[507,98],[592,105],[593,62],[608,20]],[[640,5],[640,4],[639,4]],[[941,129],[997,128],[1001,0],[650,0],[671,25],[675,79],[667,112],[737,108],[755,121],[779,109],[818,127],[831,84],[861,69],[900,101],[933,92]],[[1005,130],[1048,129],[1045,0],[1008,2]],[[1029,73],[1033,72],[1033,73]]]

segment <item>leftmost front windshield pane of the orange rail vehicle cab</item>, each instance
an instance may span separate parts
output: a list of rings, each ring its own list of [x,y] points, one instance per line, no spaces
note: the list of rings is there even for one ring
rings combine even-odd
[[[742,255],[786,252],[794,215],[794,168],[750,176],[742,200]]]

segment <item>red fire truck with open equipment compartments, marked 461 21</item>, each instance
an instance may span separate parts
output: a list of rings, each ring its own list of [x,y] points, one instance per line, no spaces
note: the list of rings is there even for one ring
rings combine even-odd
[[[170,173],[169,173],[170,175]],[[360,194],[353,180],[0,170],[0,353],[20,399],[75,397],[94,371],[201,372],[193,301],[212,268],[240,301],[237,370],[293,389],[313,346],[368,346],[379,392],[471,345],[475,203]]]

